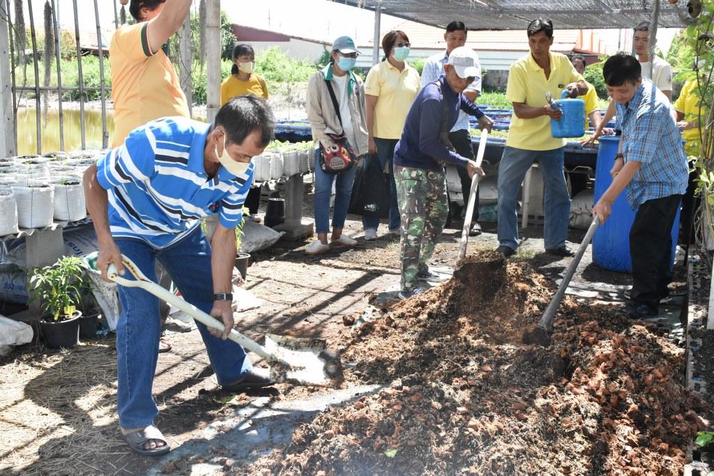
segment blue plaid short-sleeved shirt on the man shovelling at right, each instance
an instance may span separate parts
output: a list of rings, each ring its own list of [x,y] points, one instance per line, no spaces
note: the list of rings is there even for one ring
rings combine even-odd
[[[627,106],[617,104],[625,163],[642,163],[627,188],[632,208],[687,191],[687,158],[670,107],[667,96],[645,78]]]

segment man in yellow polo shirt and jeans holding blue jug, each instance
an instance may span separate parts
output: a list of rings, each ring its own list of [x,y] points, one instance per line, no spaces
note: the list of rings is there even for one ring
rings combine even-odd
[[[516,196],[528,168],[538,161],[545,188],[545,250],[559,256],[573,253],[565,246],[568,235],[570,196],[563,174],[565,140],[553,138],[550,118],[563,113],[553,109],[545,93],[557,98],[567,88],[571,96],[588,92],[583,76],[575,71],[568,57],[551,53],[553,22],[535,19],[528,25],[531,52],[511,65],[506,98],[513,101],[511,129],[498,165],[498,253],[510,256],[518,248]]]

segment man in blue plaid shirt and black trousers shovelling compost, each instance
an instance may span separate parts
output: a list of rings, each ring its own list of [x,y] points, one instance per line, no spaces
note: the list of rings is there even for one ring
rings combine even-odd
[[[649,79],[643,79],[634,56],[616,54],[603,66],[608,94],[617,105],[622,127],[620,151],[610,171],[613,183],[595,203],[593,215],[603,223],[615,198],[627,188],[630,206],[637,211],[630,229],[633,286],[629,318],[659,314],[659,300],[668,295],[671,280],[670,231],[683,194],[689,168],[668,98]]]

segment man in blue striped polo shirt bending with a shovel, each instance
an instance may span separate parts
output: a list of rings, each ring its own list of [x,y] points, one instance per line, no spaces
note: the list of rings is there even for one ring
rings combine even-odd
[[[99,239],[97,265],[106,279],[113,263],[125,275],[121,254],[156,280],[155,260],[169,271],[189,303],[223,320],[226,330],[198,330],[223,388],[271,385],[240,345],[226,340],[233,328],[231,277],[235,228],[253,181],[251,158],[273,138],[273,114],[262,98],[228,101],[213,124],[162,118],[136,128],[84,173],[87,207]],[[200,218],[218,214],[209,244]],[[126,278],[133,279],[131,273]],[[118,286],[116,326],[117,411],[131,450],[169,451],[156,427],[151,387],[159,350],[159,300],[140,288]]]

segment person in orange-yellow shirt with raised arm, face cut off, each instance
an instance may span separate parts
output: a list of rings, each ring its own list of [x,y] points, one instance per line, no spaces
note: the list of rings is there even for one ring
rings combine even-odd
[[[161,46],[176,33],[191,8],[191,0],[131,0],[134,25],[122,25],[109,45],[114,136],[111,146],[149,121],[167,116],[188,117],[188,103],[174,65]]]

